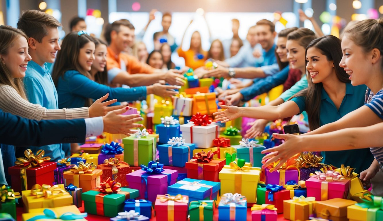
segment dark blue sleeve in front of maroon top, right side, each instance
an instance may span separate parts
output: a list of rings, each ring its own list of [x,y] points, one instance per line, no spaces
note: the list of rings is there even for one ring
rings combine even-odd
[[[246,87],[240,91],[243,96],[242,101],[249,101],[255,96],[270,91],[274,87],[283,84],[288,77],[289,67],[285,67],[277,74],[267,76],[266,78],[259,78],[250,87]]]

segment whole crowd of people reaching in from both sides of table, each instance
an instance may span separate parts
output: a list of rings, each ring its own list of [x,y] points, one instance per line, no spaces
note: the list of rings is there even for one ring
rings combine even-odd
[[[291,27],[276,33],[278,21],[262,19],[242,40],[233,19],[231,39],[212,39],[204,51],[194,31],[185,51],[187,30],[177,45],[169,33],[172,15],[164,13],[149,53],[141,39],[155,12],[137,36],[133,21],[107,24],[100,39],[85,31],[85,20],[74,18],[61,42],[61,23],[37,10],[24,12],[17,27],[0,26],[0,183],[9,183],[7,168],[25,146],[36,145],[29,148],[57,161],[75,150],[68,143],[103,131],[129,135],[142,118],[121,115],[127,102],[176,95],[183,73],[192,68],[199,78],[228,82],[215,89],[225,103],[224,111],[214,113],[218,121],[257,119],[245,137],[262,134],[270,120],[307,112],[311,132],[275,134],[285,142],[264,151],[264,167],[279,161],[278,167],[299,152],[322,151],[324,163],[352,165],[365,186],[375,182],[373,193],[383,195],[383,140],[375,135],[383,129],[383,18],[350,22],[342,40],[323,35],[302,11],[301,20],[310,20],[314,31]],[[185,67],[176,67],[173,52]],[[216,66],[206,68],[207,61]],[[242,107],[279,85],[284,92],[267,105]]]

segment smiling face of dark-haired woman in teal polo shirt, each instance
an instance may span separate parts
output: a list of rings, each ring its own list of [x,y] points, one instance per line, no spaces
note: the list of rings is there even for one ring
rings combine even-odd
[[[306,69],[314,84],[335,76],[334,62],[328,61],[326,55],[322,54],[318,48],[307,49],[306,63]]]

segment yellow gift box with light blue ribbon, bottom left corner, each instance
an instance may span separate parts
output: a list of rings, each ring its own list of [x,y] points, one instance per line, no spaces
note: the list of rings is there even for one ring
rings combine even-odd
[[[27,221],[28,219],[34,218],[36,216],[42,216],[44,215],[44,209],[46,208],[38,208],[38,209],[30,209],[29,213],[23,213],[22,215],[22,221]],[[74,213],[74,214],[81,214],[79,208],[77,206],[61,206],[56,208],[51,208],[52,211],[56,214],[57,217],[60,217],[64,213]],[[62,219],[36,219],[36,221],[62,221]],[[68,221],[68,220],[66,220]],[[70,220],[69,220],[70,221]],[[87,221],[86,219],[76,219],[76,221]]]

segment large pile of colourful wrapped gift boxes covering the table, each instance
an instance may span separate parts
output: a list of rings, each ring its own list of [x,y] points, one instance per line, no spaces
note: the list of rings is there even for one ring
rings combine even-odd
[[[26,150],[8,168],[11,186],[1,187],[0,218],[16,219],[22,206],[23,221],[87,220],[89,214],[111,221],[212,221],[217,214],[222,221],[276,221],[278,214],[383,220],[382,198],[364,190],[353,168],[332,168],[309,152],[274,172],[261,169],[268,134],[244,139],[238,121],[213,122],[216,95],[202,89],[213,79],[198,82],[187,74],[180,96],[154,104],[152,117],[142,111],[148,104],[129,110],[144,113],[147,129],[89,138],[81,153],[59,162],[43,150]]]

